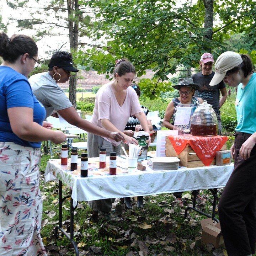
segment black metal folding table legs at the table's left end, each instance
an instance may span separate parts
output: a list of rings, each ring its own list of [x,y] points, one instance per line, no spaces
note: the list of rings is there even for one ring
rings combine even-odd
[[[74,241],[74,210],[73,199],[71,197],[72,190],[70,191],[70,196],[65,196],[62,198],[62,182],[59,180],[59,225],[55,227],[54,236],[58,239],[58,229],[68,238],[74,247],[75,255],[79,256],[79,251],[76,242]],[[70,235],[62,228],[62,203],[66,198],[70,197]]]

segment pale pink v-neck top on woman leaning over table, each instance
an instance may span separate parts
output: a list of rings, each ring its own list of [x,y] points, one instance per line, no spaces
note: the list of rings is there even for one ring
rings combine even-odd
[[[114,91],[108,83],[103,85],[97,92],[94,112],[90,122],[103,128],[100,120],[108,119],[118,130],[123,132],[129,117],[139,112],[143,112],[143,110],[140,107],[138,96],[131,86],[126,90],[126,98],[123,105],[119,106]],[[120,142],[115,142],[106,137],[103,138],[114,146],[120,144]]]

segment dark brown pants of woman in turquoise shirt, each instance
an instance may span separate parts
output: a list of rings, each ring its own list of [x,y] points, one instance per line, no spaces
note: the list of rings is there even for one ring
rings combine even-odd
[[[256,146],[243,160],[239,149],[251,134],[235,134],[235,168],[219,201],[219,219],[229,256],[255,253],[256,243]]]

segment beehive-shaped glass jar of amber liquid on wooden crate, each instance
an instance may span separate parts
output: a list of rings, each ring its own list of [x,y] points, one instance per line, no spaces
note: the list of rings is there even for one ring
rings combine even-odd
[[[212,105],[207,101],[199,104],[191,118],[190,134],[194,136],[217,136],[218,120]]]

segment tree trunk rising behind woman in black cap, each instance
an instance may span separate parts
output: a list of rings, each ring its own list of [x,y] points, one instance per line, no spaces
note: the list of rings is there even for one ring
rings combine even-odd
[[[78,50],[79,5],[78,0],[66,0],[68,9],[69,43],[72,54]],[[76,73],[69,79],[69,100],[76,109]]]

